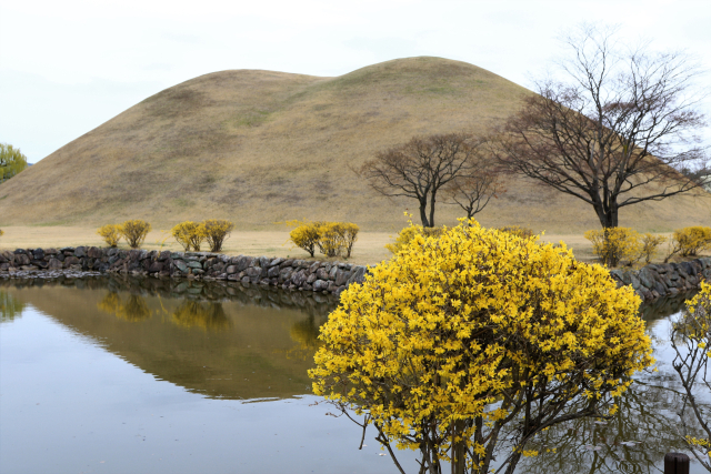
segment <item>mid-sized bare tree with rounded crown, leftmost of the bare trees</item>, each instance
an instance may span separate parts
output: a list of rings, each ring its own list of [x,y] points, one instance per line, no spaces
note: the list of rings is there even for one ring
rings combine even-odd
[[[359,174],[381,194],[417,199],[422,225],[433,228],[437,194],[458,177],[470,175],[477,147],[467,133],[413,138],[378,153],[360,168]]]

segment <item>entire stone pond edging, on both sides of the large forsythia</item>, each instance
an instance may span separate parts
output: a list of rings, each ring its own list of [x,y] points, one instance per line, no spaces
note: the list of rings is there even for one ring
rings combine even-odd
[[[18,249],[0,252],[0,278],[117,273],[134,276],[232,281],[340,295],[361,283],[368,266],[273,256],[229,256],[210,252],[123,250],[97,246]],[[612,270],[618,286],[631,285],[644,302],[699,289],[711,280],[711,258],[650,264],[641,270]],[[77,278],[74,276],[74,278]]]

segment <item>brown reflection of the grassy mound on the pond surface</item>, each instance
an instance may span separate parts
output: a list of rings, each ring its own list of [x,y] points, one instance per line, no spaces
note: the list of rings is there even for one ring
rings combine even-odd
[[[32,304],[157,379],[214,399],[311,393],[319,326],[336,306],[321,294],[241,283],[104,276],[0,285],[16,305]]]

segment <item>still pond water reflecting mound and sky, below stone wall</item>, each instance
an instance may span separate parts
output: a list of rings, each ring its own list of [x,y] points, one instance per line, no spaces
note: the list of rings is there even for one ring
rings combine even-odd
[[[682,301],[645,309],[660,372],[620,415],[549,431],[540,442],[557,453],[517,472],[660,472],[683,451],[664,342]],[[311,394],[336,304],[241,284],[0,281],[0,473],[397,472]],[[407,472],[414,454],[399,455]]]

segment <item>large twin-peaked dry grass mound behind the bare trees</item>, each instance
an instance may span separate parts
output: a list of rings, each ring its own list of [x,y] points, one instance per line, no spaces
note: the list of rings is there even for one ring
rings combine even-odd
[[[227,218],[239,229],[267,229],[306,218],[391,231],[415,202],[377,194],[351,169],[417,134],[483,132],[529,93],[440,58],[399,59],[338,78],[206,74],[146,99],[0,184],[0,225],[142,218],[167,228]],[[592,209],[573,198],[522,179],[507,188],[478,215],[484,225],[599,226]],[[708,224],[708,198],[627,208],[620,221],[655,231]],[[459,215],[441,205],[437,223]]]

